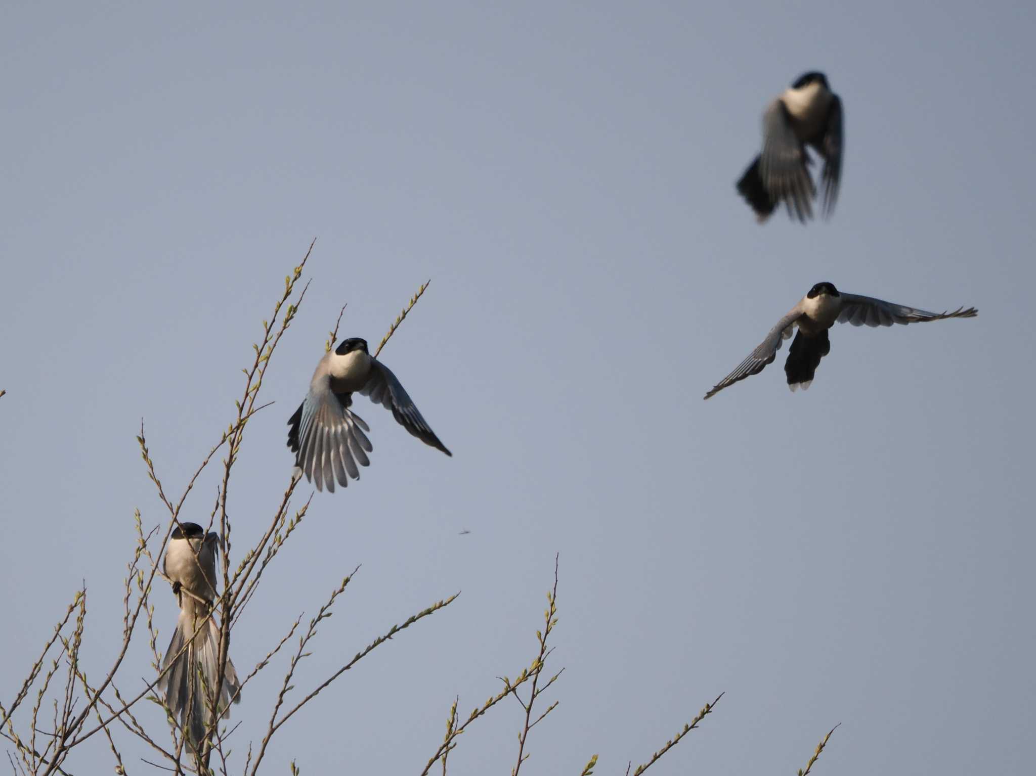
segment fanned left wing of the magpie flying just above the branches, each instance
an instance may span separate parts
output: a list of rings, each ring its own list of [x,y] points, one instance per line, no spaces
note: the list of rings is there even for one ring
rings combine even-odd
[[[306,400],[288,420],[288,447],[295,453],[295,466],[306,479],[322,490],[335,493],[335,481],[342,487],[349,477],[359,479],[359,466],[370,466],[367,453],[374,447],[364,431],[371,430],[364,419],[349,409],[352,397],[335,393],[330,378],[324,376],[310,384]]]

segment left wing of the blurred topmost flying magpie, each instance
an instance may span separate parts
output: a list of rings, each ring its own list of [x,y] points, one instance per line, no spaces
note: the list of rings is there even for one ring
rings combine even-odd
[[[759,175],[771,199],[784,202],[788,214],[803,222],[813,217],[816,193],[808,163],[806,147],[796,137],[787,108],[775,99],[762,115]]]

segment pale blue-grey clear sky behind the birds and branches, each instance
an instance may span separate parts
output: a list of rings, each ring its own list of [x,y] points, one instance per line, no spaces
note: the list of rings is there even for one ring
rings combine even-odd
[[[529,773],[594,752],[622,773],[722,691],[653,773],[794,773],[836,722],[815,773],[1028,772],[1034,33],[1020,2],[8,4],[0,696],[83,579],[87,667],[108,665],[134,508],[163,517],[140,419],[179,490],[316,237],[237,546],[345,302],[342,332],[377,341],[432,278],[383,356],[455,456],[358,399],[372,466],[315,497],[234,661],[359,563],[299,691],[463,594],[286,724],[269,772],[420,772],[454,696],[531,660],[555,553],[567,669]],[[733,182],[809,69],[845,105],[838,208],[758,227]],[[839,327],[809,392],[782,351],[703,402],[818,280],[980,315]],[[144,639],[128,660],[149,675]],[[247,688],[239,753],[279,667]],[[519,711],[472,725],[451,772],[509,772]],[[111,768],[107,744],[78,763]]]

